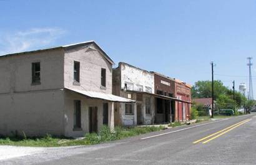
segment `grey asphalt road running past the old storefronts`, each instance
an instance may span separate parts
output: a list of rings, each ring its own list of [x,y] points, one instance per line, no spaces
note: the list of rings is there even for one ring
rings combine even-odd
[[[250,120],[247,120],[250,119]],[[246,121],[245,121],[246,120]],[[239,123],[245,121],[245,123]],[[235,125],[237,124],[237,125]],[[232,130],[226,129],[234,125]],[[223,130],[199,143],[194,141]],[[256,116],[181,126],[114,143],[51,148],[0,164],[256,164]]]

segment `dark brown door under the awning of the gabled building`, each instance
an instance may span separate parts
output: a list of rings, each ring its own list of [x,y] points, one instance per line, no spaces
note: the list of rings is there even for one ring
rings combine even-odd
[[[89,107],[89,132],[90,133],[97,133],[97,106],[90,106]]]

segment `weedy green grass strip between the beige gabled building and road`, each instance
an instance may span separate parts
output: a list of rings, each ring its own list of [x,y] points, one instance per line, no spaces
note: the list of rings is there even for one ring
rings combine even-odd
[[[111,133],[108,126],[102,126],[99,134],[87,133],[83,139],[72,139],[66,137],[53,137],[49,134],[43,137],[27,138],[22,137],[2,137],[0,145],[12,146],[35,146],[35,147],[56,147],[56,146],[77,146],[105,143],[107,141],[115,141],[139,134],[150,133],[153,131],[164,130],[163,126],[145,126],[145,127],[121,127],[117,126],[114,133]]]

